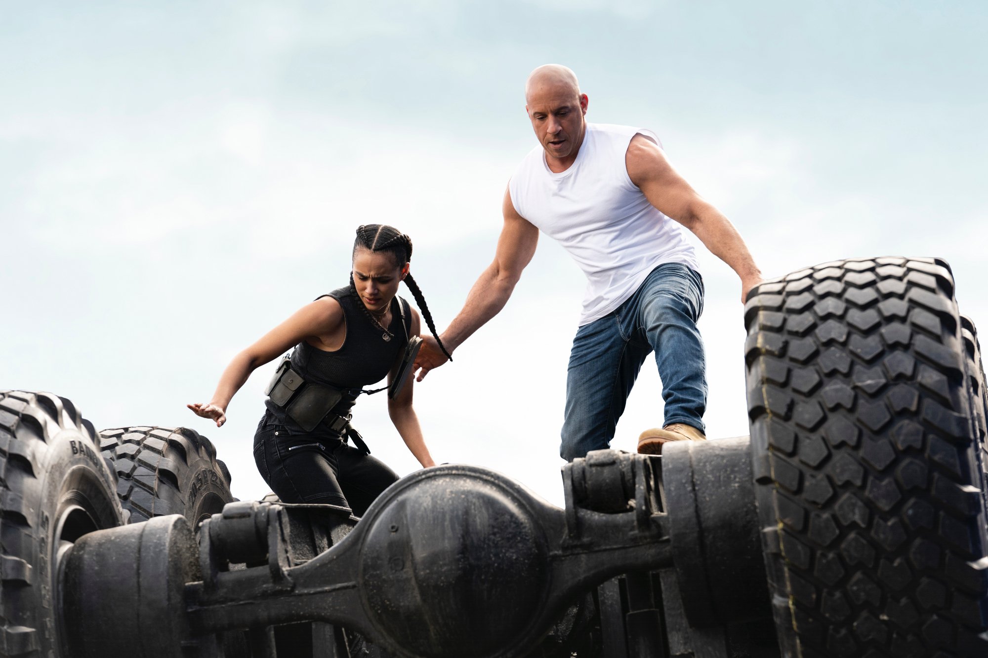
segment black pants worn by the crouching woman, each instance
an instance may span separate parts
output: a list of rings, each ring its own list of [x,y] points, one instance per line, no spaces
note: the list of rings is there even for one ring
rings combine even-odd
[[[340,505],[358,517],[398,479],[383,461],[338,437],[289,432],[267,414],[254,435],[254,461],[283,502]]]

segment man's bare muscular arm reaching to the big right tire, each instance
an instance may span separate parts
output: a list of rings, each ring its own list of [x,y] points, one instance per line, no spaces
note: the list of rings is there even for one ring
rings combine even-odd
[[[673,169],[662,149],[642,134],[628,144],[627,175],[652,206],[693,231],[710,252],[741,278],[741,302],[760,284],[762,272],[734,225],[717,208],[700,198]]]

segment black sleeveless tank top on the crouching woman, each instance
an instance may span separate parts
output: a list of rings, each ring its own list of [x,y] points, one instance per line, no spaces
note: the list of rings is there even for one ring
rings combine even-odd
[[[391,335],[389,340],[385,340],[386,334],[371,321],[366,309],[362,308],[364,302],[354,294],[353,288],[337,288],[317,298],[321,297],[333,297],[343,308],[346,323],[343,345],[335,352],[326,352],[302,341],[291,353],[291,370],[300,374],[306,382],[326,384],[341,390],[353,389],[353,394],[344,394],[343,400],[333,409],[335,414],[345,416],[357,400],[357,391],[387,376],[398,355],[404,351],[411,333],[411,311],[408,302],[403,299],[399,301],[395,295],[391,300],[391,323],[387,326]],[[276,423],[288,428],[295,425],[283,408],[270,399],[265,404]],[[294,429],[301,431],[301,428]]]

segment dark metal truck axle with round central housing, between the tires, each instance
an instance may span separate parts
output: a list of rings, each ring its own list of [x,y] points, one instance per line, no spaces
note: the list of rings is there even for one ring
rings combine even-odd
[[[448,465],[359,524],[239,502],[198,544],[180,516],[85,535],[59,560],[66,655],[206,658],[240,637],[273,657],[302,621],[324,657],[345,655],[341,626],[405,657],[779,655],[747,437],[591,452],[563,483],[559,509]]]

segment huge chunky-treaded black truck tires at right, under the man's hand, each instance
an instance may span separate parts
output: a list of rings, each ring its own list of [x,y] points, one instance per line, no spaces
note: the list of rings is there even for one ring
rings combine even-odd
[[[782,654],[988,656],[984,379],[947,263],[818,265],[745,322]]]

